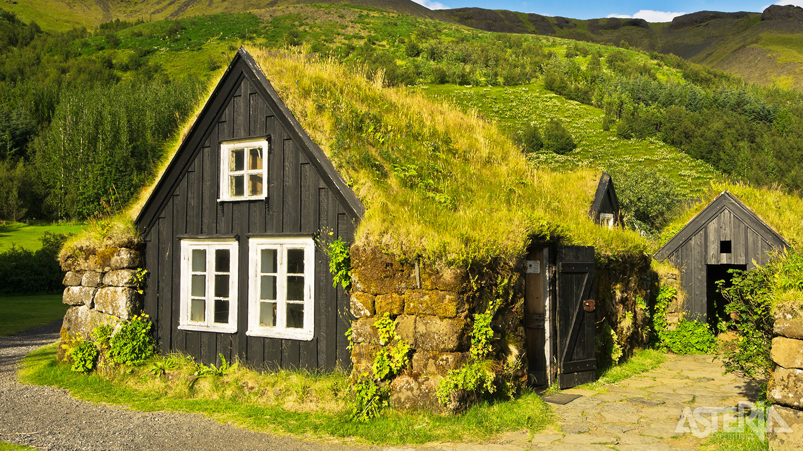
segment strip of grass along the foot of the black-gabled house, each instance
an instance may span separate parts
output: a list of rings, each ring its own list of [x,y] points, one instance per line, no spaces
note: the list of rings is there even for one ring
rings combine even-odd
[[[55,360],[56,345],[31,352],[19,372],[26,384],[66,388],[80,400],[144,412],[202,413],[223,423],[297,437],[357,438],[377,445],[487,441],[501,433],[537,433],[553,423],[552,409],[534,392],[515,400],[483,400],[458,416],[385,408],[365,423],[349,420],[349,379],[342,373],[264,372],[238,366],[202,372],[190,359],[157,357],[141,367],[83,375]],[[207,369],[209,367],[206,367]],[[158,376],[162,370],[164,374]],[[201,376],[192,376],[200,373]]]

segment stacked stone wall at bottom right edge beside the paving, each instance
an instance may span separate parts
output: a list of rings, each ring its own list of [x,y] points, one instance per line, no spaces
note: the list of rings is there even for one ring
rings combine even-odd
[[[770,449],[792,451],[803,447],[803,315],[777,307],[772,332],[770,356],[777,366],[767,397],[792,432],[769,431],[767,437]]]

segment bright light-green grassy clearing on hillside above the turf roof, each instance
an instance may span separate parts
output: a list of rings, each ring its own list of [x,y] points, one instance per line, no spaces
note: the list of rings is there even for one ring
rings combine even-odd
[[[707,193],[711,181],[722,180],[711,165],[680,152],[659,140],[621,140],[612,129],[602,130],[604,113],[589,105],[566,100],[547,91],[542,83],[523,87],[459,87],[432,85],[429,95],[446,98],[466,110],[474,109],[510,132],[520,132],[524,124],[541,129],[551,119],[564,121],[577,142],[568,155],[540,153],[532,156],[537,164],[568,170],[588,167],[605,170],[613,165],[644,165],[675,181],[691,196]]]

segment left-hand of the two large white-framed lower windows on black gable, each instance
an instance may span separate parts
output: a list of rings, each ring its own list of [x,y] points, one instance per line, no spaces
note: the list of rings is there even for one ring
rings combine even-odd
[[[237,241],[181,240],[181,316],[187,331],[237,331]]]

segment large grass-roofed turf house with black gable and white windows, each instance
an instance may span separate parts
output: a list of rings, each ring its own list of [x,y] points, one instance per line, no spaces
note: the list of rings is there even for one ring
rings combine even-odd
[[[142,311],[164,352],[453,409],[476,392],[436,392],[465,368],[565,388],[646,343],[658,278],[609,175],[537,168],[415,88],[241,48],[166,160],[120,233],[63,250],[63,334]]]

